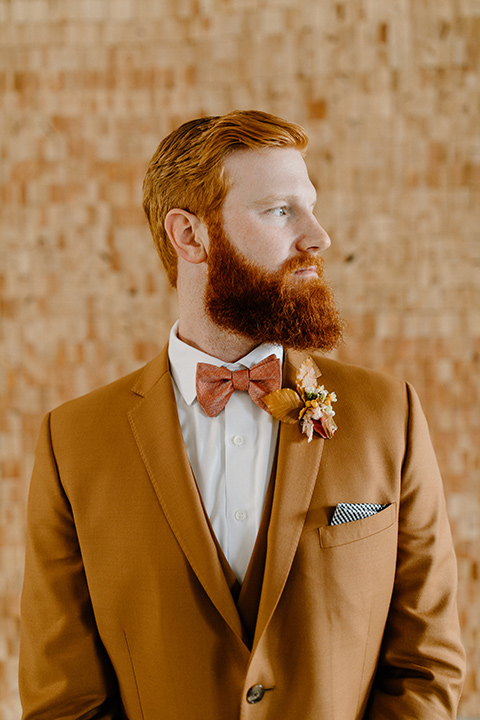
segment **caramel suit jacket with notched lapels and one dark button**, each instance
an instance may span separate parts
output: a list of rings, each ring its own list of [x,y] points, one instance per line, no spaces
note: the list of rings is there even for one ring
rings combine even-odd
[[[400,381],[314,357],[338,431],[308,443],[281,426],[250,638],[189,466],[166,349],[45,419],[28,509],[24,720],[456,717],[456,565],[418,400]],[[284,385],[304,359],[287,353]],[[343,502],[387,507],[330,525]]]

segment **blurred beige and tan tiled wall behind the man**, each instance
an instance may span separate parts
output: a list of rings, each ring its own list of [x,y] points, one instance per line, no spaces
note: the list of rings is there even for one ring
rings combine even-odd
[[[303,124],[337,355],[416,386],[445,478],[480,716],[480,0],[0,0],[0,718],[43,414],[151,358],[175,319],[141,181],[181,121]]]

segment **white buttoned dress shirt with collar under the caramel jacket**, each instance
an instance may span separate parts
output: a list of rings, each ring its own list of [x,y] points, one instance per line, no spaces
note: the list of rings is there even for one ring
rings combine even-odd
[[[238,362],[225,363],[182,342],[177,328],[178,322],[170,331],[168,358],[188,459],[215,535],[243,582],[272,472],[278,420],[239,390],[216,417],[208,417],[197,400],[197,363],[241,370],[272,353],[282,362],[283,348],[259,345]]]

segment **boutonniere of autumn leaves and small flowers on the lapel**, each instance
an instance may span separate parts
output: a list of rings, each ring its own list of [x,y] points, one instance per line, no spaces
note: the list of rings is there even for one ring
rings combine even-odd
[[[337,429],[332,408],[337,396],[318,384],[321,374],[312,358],[308,357],[297,372],[297,392],[292,388],[282,388],[262,398],[273,417],[290,424],[299,422],[308,442],[314,432],[330,439]]]

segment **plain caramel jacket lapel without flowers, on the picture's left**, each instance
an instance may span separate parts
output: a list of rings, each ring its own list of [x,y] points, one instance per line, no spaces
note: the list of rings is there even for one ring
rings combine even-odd
[[[167,349],[149,363],[133,391],[142,400],[130,425],[165,517],[217,610],[242,638],[242,625],[190,468],[168,370]]]

